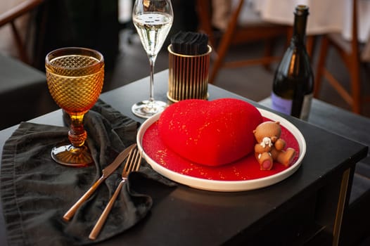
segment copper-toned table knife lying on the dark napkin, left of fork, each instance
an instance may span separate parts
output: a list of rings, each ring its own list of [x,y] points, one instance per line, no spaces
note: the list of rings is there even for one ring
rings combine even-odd
[[[81,198],[79,198],[79,200],[77,200],[77,202],[75,202],[74,205],[72,205],[72,207],[70,207],[70,209],[64,214],[63,216],[63,219],[65,221],[69,221],[73,215],[75,215],[75,212],[77,211],[77,209],[82,205],[82,203],[84,203],[93,193],[94,191],[96,190],[96,188],[98,188],[98,186],[101,185],[101,183],[103,183],[103,181],[105,181],[108,176],[110,176],[110,174],[113,173],[113,171],[115,171],[115,169],[117,169],[117,167],[120,166],[120,164],[126,159],[126,157],[129,155],[129,152],[132,150],[132,148],[134,148],[136,146],[136,143],[132,144],[132,145],[129,145],[129,147],[125,148],[125,150],[123,150],[119,155],[117,155],[117,157],[115,157],[115,160],[113,160],[112,163],[110,163],[108,165],[108,167],[106,167],[105,169],[102,170],[103,174],[101,175],[101,177],[89,188],[89,190],[87,190],[86,193],[84,193],[84,195],[82,195]]]

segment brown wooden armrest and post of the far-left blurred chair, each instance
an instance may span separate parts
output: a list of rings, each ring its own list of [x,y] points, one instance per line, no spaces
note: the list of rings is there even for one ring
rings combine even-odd
[[[31,64],[31,58],[29,56],[30,48],[32,45],[30,39],[30,28],[31,22],[25,21],[25,26],[20,25],[18,20],[24,18],[26,15],[33,15],[34,11],[37,10],[44,0],[25,0],[20,1],[15,4],[12,8],[8,9],[6,12],[0,14],[0,28],[5,25],[11,27],[11,34],[13,41],[18,52],[18,58],[23,61],[23,63]],[[27,16],[30,17],[30,16]],[[23,28],[23,30],[22,30]]]

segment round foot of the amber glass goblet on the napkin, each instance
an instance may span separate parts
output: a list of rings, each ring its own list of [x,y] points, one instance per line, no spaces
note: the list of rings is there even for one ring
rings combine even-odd
[[[87,167],[93,162],[89,149],[84,145],[78,148],[72,144],[58,145],[51,150],[51,157],[68,167]]]

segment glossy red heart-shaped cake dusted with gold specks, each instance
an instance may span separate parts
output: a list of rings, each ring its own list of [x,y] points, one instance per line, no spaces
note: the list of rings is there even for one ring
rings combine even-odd
[[[192,162],[219,166],[254,149],[253,130],[262,123],[255,106],[234,98],[189,99],[170,105],[158,119],[158,133],[172,151]]]

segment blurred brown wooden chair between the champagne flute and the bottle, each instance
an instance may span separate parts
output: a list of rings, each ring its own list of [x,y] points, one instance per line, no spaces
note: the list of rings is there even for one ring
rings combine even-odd
[[[282,35],[289,37],[291,35],[291,27],[287,25],[274,25],[272,23],[262,22],[262,20],[253,23],[238,22],[241,8],[244,1],[238,1],[238,5],[231,11],[231,18],[217,44],[217,37],[212,28],[212,6],[210,1],[196,1],[196,9],[199,19],[199,29],[208,34],[210,45],[213,47],[216,58],[213,63],[212,72],[210,74],[210,83],[215,82],[217,73],[222,67],[241,67],[245,65],[269,65],[281,60],[281,57],[272,56],[273,39]],[[293,17],[292,17],[293,18]],[[225,62],[227,52],[231,45],[243,44],[251,41],[266,41],[264,47],[264,55],[260,58],[249,60],[235,60]]]

